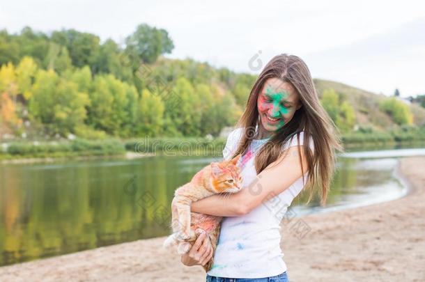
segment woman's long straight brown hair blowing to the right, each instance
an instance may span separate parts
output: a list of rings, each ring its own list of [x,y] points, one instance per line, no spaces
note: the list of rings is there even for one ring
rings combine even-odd
[[[252,87],[251,93],[249,93],[247,107],[236,125],[236,127],[242,127],[245,134],[242,134],[242,139],[240,139],[233,157],[244,153],[257,133],[256,127],[261,123],[257,99],[265,81],[270,78],[278,78],[292,84],[300,95],[302,106],[295,111],[293,118],[277,130],[258,152],[254,161],[256,172],[257,174],[261,173],[279,157],[284,157],[284,152],[281,150],[282,146],[294,135],[300,141],[299,132],[304,131],[302,150],[309,166],[307,168],[309,171],[307,185],[304,183],[304,187],[310,191],[307,203],[311,201],[314,190],[318,189],[320,191],[320,205],[325,205],[328,187],[334,172],[335,151],[342,151],[342,147],[339,131],[320,104],[309,68],[301,58],[280,54],[265,65]],[[309,150],[310,136],[314,141],[314,153]],[[300,148],[298,150],[300,152]],[[304,174],[304,168],[301,167],[301,169]]]

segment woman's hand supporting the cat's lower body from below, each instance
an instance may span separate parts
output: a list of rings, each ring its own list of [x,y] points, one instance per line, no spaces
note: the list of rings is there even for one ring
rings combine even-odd
[[[183,265],[206,265],[212,257],[212,246],[210,237],[206,235],[205,230],[196,229],[196,234],[200,234],[194,242],[190,251],[181,256]]]

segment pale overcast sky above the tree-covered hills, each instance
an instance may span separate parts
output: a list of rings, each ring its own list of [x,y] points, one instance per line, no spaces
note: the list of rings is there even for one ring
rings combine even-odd
[[[264,66],[288,53],[303,58],[314,78],[387,95],[425,93],[423,1],[180,2],[3,0],[0,29],[72,28],[122,42],[146,23],[169,32],[170,58],[258,73],[254,56]]]

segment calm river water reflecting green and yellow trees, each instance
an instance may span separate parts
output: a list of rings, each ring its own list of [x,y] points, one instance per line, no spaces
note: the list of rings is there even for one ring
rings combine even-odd
[[[0,265],[169,233],[176,187],[215,158],[148,157],[0,165]],[[328,209],[404,193],[396,159],[339,157]],[[321,212],[318,199],[298,215]]]

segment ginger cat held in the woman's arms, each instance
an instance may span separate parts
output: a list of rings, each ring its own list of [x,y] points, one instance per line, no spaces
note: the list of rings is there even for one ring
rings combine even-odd
[[[187,253],[196,240],[195,230],[197,228],[205,230],[210,237],[213,251],[211,260],[203,266],[206,272],[212,266],[222,217],[191,212],[190,205],[192,202],[213,194],[240,191],[242,177],[240,169],[236,166],[239,158],[240,155],[229,161],[212,162],[196,173],[189,183],[174,192],[171,203],[173,234],[169,235],[163,246],[167,248],[178,244],[178,253]]]

